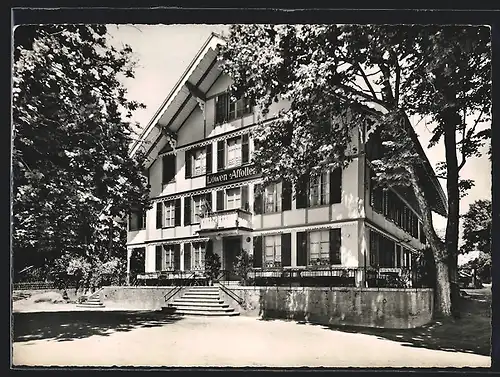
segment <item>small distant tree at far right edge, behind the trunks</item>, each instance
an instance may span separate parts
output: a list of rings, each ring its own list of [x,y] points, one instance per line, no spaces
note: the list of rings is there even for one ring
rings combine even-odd
[[[460,252],[479,253],[465,267],[474,268],[483,281],[491,279],[491,218],[490,200],[476,200],[463,216],[463,245]]]

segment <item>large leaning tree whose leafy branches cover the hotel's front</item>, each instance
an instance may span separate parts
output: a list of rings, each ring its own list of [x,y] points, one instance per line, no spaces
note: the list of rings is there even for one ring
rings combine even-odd
[[[425,59],[423,54],[429,54],[428,40],[446,41],[431,38],[438,32],[423,26],[235,25],[221,58],[223,70],[234,80],[235,96],[244,93],[264,114],[278,99],[289,101],[277,120],[263,121],[256,130],[255,158],[264,184],[284,179],[300,191],[301,177],[352,160],[358,151],[350,149],[350,141],[360,124],[366,125],[365,135],[380,137],[384,153],[372,161],[375,179],[383,186],[413,190],[435,259],[437,314],[446,316],[451,313],[446,248],[451,243],[443,243],[434,230],[427,182],[419,173],[425,161],[408,120],[408,114],[419,109],[412,108],[413,97],[432,101],[435,95],[425,86],[425,77],[412,72],[431,67],[432,54]],[[472,37],[469,33],[467,38]],[[481,47],[471,54],[488,43],[477,36],[473,41]],[[422,61],[425,64],[420,65]],[[487,93],[484,84],[473,80],[471,92]],[[474,139],[474,132],[474,128],[465,132],[466,139]],[[476,136],[476,140],[487,137]],[[474,155],[480,144],[464,146],[465,158]]]

